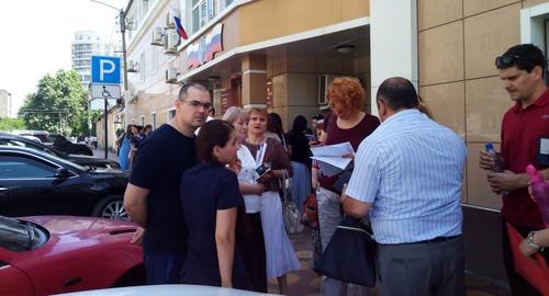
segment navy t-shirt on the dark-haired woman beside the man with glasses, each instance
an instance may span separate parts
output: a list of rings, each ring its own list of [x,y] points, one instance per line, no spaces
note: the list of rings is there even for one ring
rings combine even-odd
[[[198,164],[183,173],[180,198],[188,229],[188,249],[181,270],[181,282],[220,286],[215,223],[217,210],[244,208],[238,179],[233,171],[224,167]],[[249,283],[247,281],[238,243],[235,243],[233,285],[246,288]]]

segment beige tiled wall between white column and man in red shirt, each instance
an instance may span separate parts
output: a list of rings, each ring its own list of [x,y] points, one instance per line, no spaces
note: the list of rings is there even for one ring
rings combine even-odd
[[[479,150],[498,146],[504,112],[512,101],[494,59],[520,43],[519,11],[546,1],[418,0],[419,94],[439,123],[468,148],[464,202],[500,208],[478,166]]]

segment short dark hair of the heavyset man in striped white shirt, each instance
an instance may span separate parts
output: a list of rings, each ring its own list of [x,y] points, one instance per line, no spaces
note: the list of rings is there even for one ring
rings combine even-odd
[[[385,79],[379,87],[376,99],[383,101],[391,110],[415,109],[419,105],[414,84],[402,77]]]

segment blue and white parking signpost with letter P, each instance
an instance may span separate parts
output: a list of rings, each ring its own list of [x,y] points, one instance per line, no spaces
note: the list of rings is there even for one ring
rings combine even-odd
[[[108,102],[120,99],[120,58],[91,56],[91,98],[104,100],[104,158],[109,158]]]

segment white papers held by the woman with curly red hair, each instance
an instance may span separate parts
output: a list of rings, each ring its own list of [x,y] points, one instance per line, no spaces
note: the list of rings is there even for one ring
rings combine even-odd
[[[322,173],[329,177],[340,173],[349,166],[352,158],[344,158],[343,156],[354,155],[355,149],[350,143],[346,141],[311,148],[311,152],[313,152],[311,158],[320,162]]]

